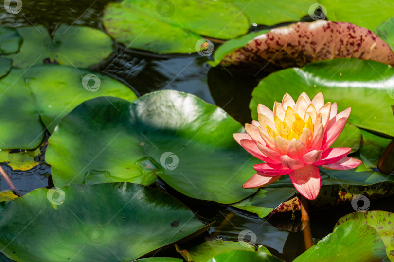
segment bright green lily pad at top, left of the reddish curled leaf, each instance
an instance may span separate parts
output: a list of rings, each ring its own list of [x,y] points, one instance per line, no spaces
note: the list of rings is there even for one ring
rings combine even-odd
[[[127,48],[158,53],[199,52],[203,36],[231,39],[249,29],[248,18],[238,7],[215,0],[109,3],[103,25]]]

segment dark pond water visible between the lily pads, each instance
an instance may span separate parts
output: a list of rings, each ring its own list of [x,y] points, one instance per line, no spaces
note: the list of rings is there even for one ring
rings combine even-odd
[[[39,0],[23,1],[22,11],[14,16],[5,10],[0,11],[1,24],[3,26],[20,27],[30,25],[44,25],[49,32],[53,32],[61,23],[75,25],[89,25],[102,29],[100,18],[104,5],[108,1],[79,0]],[[163,90],[175,89],[194,94],[208,103],[224,108],[233,118],[242,124],[251,122],[249,102],[251,91],[258,83],[258,79],[248,78],[244,75],[230,73],[226,70],[210,69],[206,64],[209,57],[198,54],[190,55],[153,55],[148,52],[125,50],[118,44],[115,52],[105,64],[92,70],[108,74],[127,84],[138,95]],[[46,139],[48,138],[48,135]],[[10,176],[20,194],[25,194],[39,187],[53,187],[51,169],[44,159],[46,146],[42,148],[42,155],[36,160],[40,163],[28,171],[13,171],[7,164],[2,164],[5,172]],[[238,234],[244,229],[253,231],[256,236],[256,245],[265,245],[272,254],[291,261],[304,251],[303,236],[301,232],[288,232],[277,227],[289,227],[291,214],[275,215],[269,220],[260,219],[254,214],[235,210],[224,205],[201,203],[175,192],[162,181],[155,183],[156,187],[176,196],[192,210],[204,222],[216,221],[209,234],[204,234],[193,241],[203,241],[207,237],[220,237],[226,240],[238,240]],[[9,189],[5,181],[1,181],[0,190]],[[394,199],[387,199],[390,203]],[[382,201],[372,201],[371,210],[378,209]],[[384,207],[388,210],[388,207]],[[324,210],[312,210],[312,232],[315,238],[322,238],[332,229],[336,221],[344,214],[352,212],[349,206],[327,208]],[[388,210],[388,211],[394,211]],[[330,216],[325,214],[330,213]],[[296,212],[295,221],[300,220],[300,214]],[[325,220],[321,220],[321,218]],[[280,221],[283,221],[281,224]],[[272,225],[276,225],[274,227]],[[172,250],[172,249],[171,249]],[[175,251],[162,251],[157,256],[181,256]],[[10,261],[7,258],[0,258]]]

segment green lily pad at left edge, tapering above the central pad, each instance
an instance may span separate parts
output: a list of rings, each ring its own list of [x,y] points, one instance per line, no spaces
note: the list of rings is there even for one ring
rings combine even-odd
[[[58,65],[13,69],[0,80],[0,94],[2,150],[36,148],[45,128],[52,132],[63,116],[88,99],[137,98],[130,88],[106,75]]]

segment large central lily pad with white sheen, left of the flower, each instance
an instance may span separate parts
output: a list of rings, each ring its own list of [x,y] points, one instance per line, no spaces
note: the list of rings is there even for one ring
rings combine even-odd
[[[149,184],[158,175],[187,196],[229,204],[256,192],[242,188],[259,162],[233,139],[243,130],[221,108],[178,91],[149,93],[131,104],[97,98],[63,118],[45,159],[58,187]]]

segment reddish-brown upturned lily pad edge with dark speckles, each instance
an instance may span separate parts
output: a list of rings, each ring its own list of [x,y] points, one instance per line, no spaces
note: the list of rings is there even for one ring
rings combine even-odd
[[[298,22],[274,28],[244,47],[229,52],[221,61],[236,70],[269,70],[336,58],[360,58],[394,65],[390,46],[366,28],[346,22]]]

